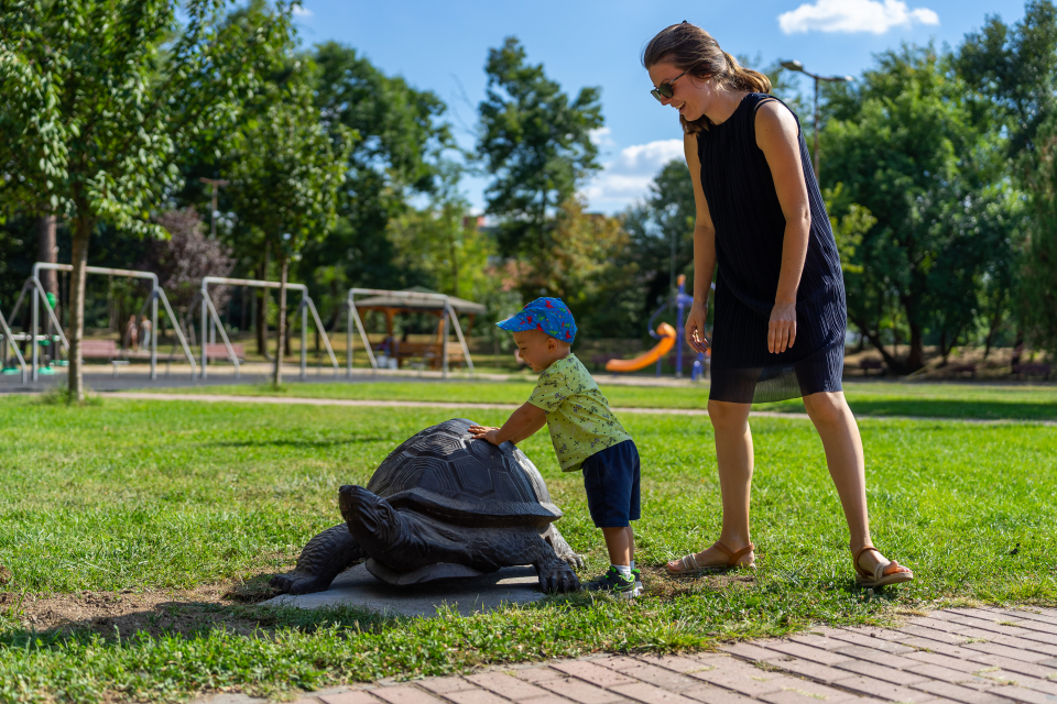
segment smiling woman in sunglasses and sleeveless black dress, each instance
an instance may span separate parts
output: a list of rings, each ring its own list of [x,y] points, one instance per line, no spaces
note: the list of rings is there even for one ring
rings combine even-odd
[[[694,182],[694,306],[687,343],[705,352],[705,315],[716,279],[712,384],[722,492],[719,540],[667,564],[672,574],[751,565],[752,403],[803,396],[826,450],[851,531],[860,584],[908,582],[913,573],[871,543],[862,441],[844,402],[844,307],[840,258],[796,116],[766,95],[771,81],[747,69],[705,30],[683,22],[657,34],[642,56],[654,90],[679,112]]]

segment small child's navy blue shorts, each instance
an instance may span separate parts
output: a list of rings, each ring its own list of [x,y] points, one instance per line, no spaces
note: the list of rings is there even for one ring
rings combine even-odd
[[[639,450],[631,440],[584,460],[587,508],[598,528],[624,528],[639,520]]]

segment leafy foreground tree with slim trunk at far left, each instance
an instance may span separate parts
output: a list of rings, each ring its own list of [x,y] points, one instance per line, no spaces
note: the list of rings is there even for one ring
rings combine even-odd
[[[288,32],[288,8],[246,35],[219,25],[225,4],[0,0],[0,199],[20,208],[32,196],[69,223],[72,399],[84,397],[85,266],[97,224],[163,234],[150,209],[178,185],[181,150],[232,122],[259,56]]]

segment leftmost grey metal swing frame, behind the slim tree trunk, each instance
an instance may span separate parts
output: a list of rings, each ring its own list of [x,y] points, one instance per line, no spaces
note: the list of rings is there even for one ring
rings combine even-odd
[[[30,294],[30,332],[26,336],[21,336],[22,341],[31,341],[31,378],[35,382],[40,378],[40,343],[48,342],[54,343],[57,341],[62,343],[63,349],[66,351],[67,356],[69,355],[69,341],[66,339],[66,336],[63,333],[63,326],[59,322],[58,318],[55,316],[55,310],[52,308],[51,302],[48,302],[47,294],[44,292],[44,286],[41,284],[40,273],[41,271],[54,271],[54,272],[73,272],[74,267],[72,264],[51,264],[48,262],[36,262],[33,264],[33,271],[30,277],[25,280],[25,284],[22,286],[22,293],[19,294],[19,298],[14,304],[14,308],[11,310],[9,319],[14,320],[19,315],[19,308],[22,306],[22,301],[25,298],[26,293]],[[168,305],[168,297],[165,296],[165,290],[162,289],[157,284],[157,275],[153,272],[139,272],[133,270],[123,270],[123,268],[107,268],[102,266],[86,266],[86,274],[103,274],[107,276],[124,276],[128,278],[142,278],[151,282],[151,293],[148,296],[146,300],[143,302],[143,307],[140,309],[140,315],[143,315],[143,311],[146,309],[148,304],[151,306],[151,324],[153,326],[151,330],[157,330],[157,301],[161,300],[162,305],[165,306],[165,314],[168,316],[170,321],[173,323],[173,330],[176,333],[176,338],[179,341],[179,344],[183,346],[184,354],[187,358],[187,361],[190,363],[190,376],[192,378],[197,377],[197,370],[195,366],[195,356],[190,352],[190,348],[187,345],[187,340],[184,338],[183,330],[179,328],[179,321],[176,316],[173,314],[172,306]],[[41,327],[41,315],[40,315],[40,305],[43,301],[44,310],[47,314],[48,320],[56,331],[55,338],[51,334],[40,334]],[[3,322],[3,334],[6,340],[12,345],[15,346],[15,353],[20,364],[22,365],[22,376],[23,383],[25,381],[25,361],[22,358],[22,354],[18,351],[15,341],[20,340],[20,336],[13,336],[8,328],[7,321],[2,320],[0,316],[0,321]],[[151,381],[157,380],[157,334],[151,336]]]

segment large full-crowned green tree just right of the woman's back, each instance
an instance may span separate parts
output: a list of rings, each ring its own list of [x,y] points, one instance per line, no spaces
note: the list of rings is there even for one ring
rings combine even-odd
[[[926,334],[946,354],[970,329],[982,273],[1004,255],[1001,231],[979,227],[1010,222],[988,215],[1011,202],[994,160],[1001,136],[973,122],[950,58],[931,46],[881,54],[844,90],[826,128],[826,172],[843,185],[840,201],[876,218],[852,257],[862,272],[846,274],[848,315],[891,369],[913,372]],[[886,326],[905,332],[905,359],[885,349]]]

